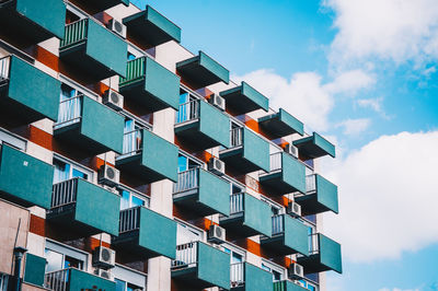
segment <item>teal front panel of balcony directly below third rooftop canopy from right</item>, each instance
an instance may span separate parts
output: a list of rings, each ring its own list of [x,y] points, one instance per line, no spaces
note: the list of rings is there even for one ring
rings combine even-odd
[[[269,172],[269,143],[247,128],[243,130],[243,158]]]

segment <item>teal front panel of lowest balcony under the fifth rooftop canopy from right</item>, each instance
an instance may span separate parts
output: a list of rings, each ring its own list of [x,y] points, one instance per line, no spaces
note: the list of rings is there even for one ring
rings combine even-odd
[[[140,211],[139,245],[174,259],[176,222],[145,207],[141,207]]]

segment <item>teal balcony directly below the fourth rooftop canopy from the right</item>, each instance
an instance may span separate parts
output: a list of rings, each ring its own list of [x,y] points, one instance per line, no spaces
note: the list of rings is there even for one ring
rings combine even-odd
[[[229,148],[230,119],[212,105],[194,100],[181,104],[175,116],[175,135],[198,150]]]

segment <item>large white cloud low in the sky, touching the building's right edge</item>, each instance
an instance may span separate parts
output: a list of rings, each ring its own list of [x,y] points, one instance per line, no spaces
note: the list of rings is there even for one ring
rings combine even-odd
[[[341,211],[324,226],[344,258],[395,259],[438,242],[437,148],[438,131],[382,136],[324,170]]]

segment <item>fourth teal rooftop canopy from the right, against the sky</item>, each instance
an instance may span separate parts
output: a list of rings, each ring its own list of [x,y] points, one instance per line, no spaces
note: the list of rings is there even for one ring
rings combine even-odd
[[[230,82],[230,71],[200,50],[196,57],[177,62],[176,71],[186,83],[196,89]]]

